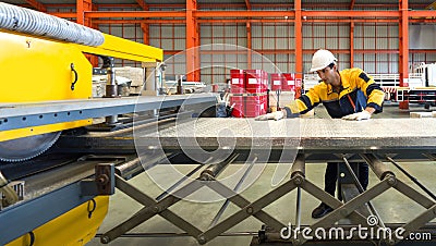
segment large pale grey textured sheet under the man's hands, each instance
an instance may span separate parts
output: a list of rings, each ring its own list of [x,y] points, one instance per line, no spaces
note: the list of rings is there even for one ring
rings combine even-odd
[[[142,144],[159,143],[164,148],[183,146],[235,148],[281,148],[295,145],[302,149],[434,149],[436,119],[196,119],[144,134]],[[289,146],[288,146],[289,147]]]

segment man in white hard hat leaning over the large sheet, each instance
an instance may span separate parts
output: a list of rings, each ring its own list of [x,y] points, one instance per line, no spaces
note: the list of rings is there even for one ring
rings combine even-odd
[[[382,88],[361,69],[339,71],[337,59],[330,51],[320,49],[314,53],[311,72],[318,74],[322,79],[319,84],[282,110],[259,115],[255,120],[294,118],[311,111],[319,103],[324,104],[331,118],[350,121],[368,120],[373,113],[383,111],[385,94]],[[366,189],[368,184],[366,163],[359,164],[359,181]],[[327,163],[325,190],[331,196],[335,196],[337,175],[338,163]],[[322,218],[331,210],[323,202],[315,208],[312,217]]]

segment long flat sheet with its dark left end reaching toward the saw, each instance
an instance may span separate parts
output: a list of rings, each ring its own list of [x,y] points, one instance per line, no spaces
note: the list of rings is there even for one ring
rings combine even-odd
[[[307,153],[404,153],[436,151],[436,119],[372,119],[353,122],[332,119],[179,119],[126,133],[61,137],[59,148],[108,149],[299,149]]]

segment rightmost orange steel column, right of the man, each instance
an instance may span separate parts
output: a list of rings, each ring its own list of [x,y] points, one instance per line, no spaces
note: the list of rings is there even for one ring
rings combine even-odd
[[[399,22],[400,30],[400,86],[409,86],[409,4],[408,0],[399,0],[401,20]],[[409,109],[409,101],[401,101],[400,109]]]

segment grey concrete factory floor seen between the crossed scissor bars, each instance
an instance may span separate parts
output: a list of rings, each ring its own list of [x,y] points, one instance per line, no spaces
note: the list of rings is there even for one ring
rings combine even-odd
[[[384,113],[375,115],[375,118],[409,118],[411,111],[425,111],[423,106],[411,106],[410,110],[399,110],[398,104],[385,104]],[[315,118],[328,118],[325,109],[318,107],[314,114]],[[316,184],[319,187],[324,187],[324,171],[325,163],[308,163],[306,165],[306,179]],[[416,177],[424,186],[429,190],[436,190],[436,182],[434,179],[434,173],[436,173],[436,162],[401,162],[401,167],[405,169],[410,174]],[[158,169],[156,167],[155,169]],[[230,165],[221,174],[222,177],[234,173],[241,167]],[[396,167],[389,164],[389,168],[396,173],[397,177],[408,185],[411,185],[414,189],[422,192],[417,185],[413,184],[410,179],[402,174]],[[194,165],[180,165],[178,170],[182,173],[189,173],[194,169]],[[275,187],[271,185],[271,176],[274,175],[276,165],[268,164],[262,170],[259,177],[241,194],[243,197],[250,201],[254,201],[261,196],[265,195]],[[165,175],[162,171],[161,175]],[[195,176],[195,174],[194,174]],[[252,179],[246,179],[252,180]],[[284,181],[283,181],[284,182]],[[370,186],[377,184],[378,180],[376,175],[370,171]],[[155,182],[146,174],[142,173],[134,179],[129,181],[130,184],[136,186],[150,197],[157,197],[162,193]],[[199,192],[203,194],[214,192],[203,188]],[[423,192],[422,192],[423,193]],[[424,193],[423,193],[424,194]],[[194,201],[179,201],[170,208],[170,210],[183,219],[187,220],[190,223],[194,224],[202,231],[207,230],[210,221],[214,219],[225,200],[216,202],[194,202]],[[312,195],[302,192],[302,211],[301,211],[301,223],[303,225],[311,225],[318,220],[312,219],[312,210],[319,205],[319,201]],[[377,209],[380,219],[385,223],[398,223],[407,222],[425,211],[423,207],[414,202],[413,200],[407,198],[395,189],[389,189],[380,196],[373,200],[374,207]],[[99,233],[104,233],[112,229],[114,225],[121,223],[125,219],[130,218],[132,214],[137,212],[142,206],[134,201],[132,198],[128,197],[120,190],[117,190],[114,195],[110,197],[109,212],[106,217],[102,225],[100,226]],[[293,190],[275,202],[267,206],[264,211],[268,212],[274,218],[281,221],[283,224],[292,223],[295,224],[295,208],[296,208],[296,190]],[[239,211],[239,208],[232,204],[228,206],[225,210],[220,221],[227,217]],[[432,222],[436,222],[436,219]],[[231,232],[257,232],[262,222],[257,219],[251,217],[243,222],[237,224],[234,227],[230,229],[228,233]],[[140,226],[133,229],[130,233],[182,233],[180,229],[172,225],[170,222],[166,221],[159,216],[152,218]],[[206,245],[250,245],[252,236],[219,236]],[[102,245],[99,238],[94,238],[87,246]],[[179,237],[120,237],[111,242],[109,245],[112,246],[130,246],[130,245],[198,245],[197,241],[189,236]]]

